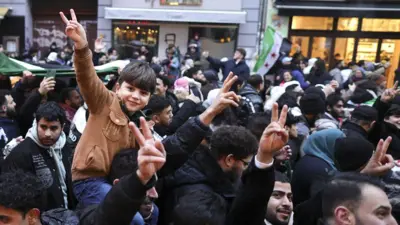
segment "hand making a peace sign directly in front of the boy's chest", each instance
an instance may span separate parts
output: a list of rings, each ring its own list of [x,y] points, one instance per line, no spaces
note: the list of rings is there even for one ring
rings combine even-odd
[[[140,118],[139,128],[133,123],[129,123],[129,128],[135,135],[140,149],[138,152],[138,170],[136,171],[142,184],[147,184],[149,180],[157,173],[166,161],[166,152],[160,141],[155,141],[146,120]]]

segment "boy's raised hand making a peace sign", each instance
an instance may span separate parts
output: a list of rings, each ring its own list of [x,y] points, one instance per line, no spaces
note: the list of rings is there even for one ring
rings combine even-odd
[[[87,45],[86,32],[83,26],[78,22],[75,11],[71,9],[70,12],[72,20],[68,20],[64,13],[60,12],[61,19],[67,26],[65,28],[65,34],[74,41],[76,49],[82,49]]]

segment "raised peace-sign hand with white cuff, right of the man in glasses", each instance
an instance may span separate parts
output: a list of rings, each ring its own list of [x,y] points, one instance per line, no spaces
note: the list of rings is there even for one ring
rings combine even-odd
[[[265,128],[259,144],[257,160],[262,163],[271,163],[275,152],[282,149],[289,140],[289,134],[285,130],[288,107],[285,105],[278,118],[278,104],[272,107],[271,123]]]

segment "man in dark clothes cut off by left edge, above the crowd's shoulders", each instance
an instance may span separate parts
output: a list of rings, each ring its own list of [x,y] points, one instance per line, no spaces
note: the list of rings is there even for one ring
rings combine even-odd
[[[20,134],[16,116],[15,102],[8,90],[0,90],[0,149]]]

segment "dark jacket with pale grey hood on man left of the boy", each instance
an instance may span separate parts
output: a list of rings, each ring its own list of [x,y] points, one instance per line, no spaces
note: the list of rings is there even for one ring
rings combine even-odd
[[[72,191],[72,151],[65,144],[64,132],[53,146],[43,146],[38,138],[36,121],[23,142],[6,157],[2,172],[21,169],[35,174],[47,189],[45,210],[73,209],[76,200]]]

